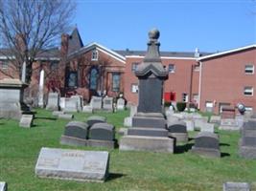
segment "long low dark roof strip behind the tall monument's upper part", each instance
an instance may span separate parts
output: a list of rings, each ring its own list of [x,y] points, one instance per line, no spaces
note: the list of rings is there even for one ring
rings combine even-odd
[[[123,56],[127,55],[141,55],[145,56],[147,53],[146,51],[114,51],[116,53],[120,53]],[[200,53],[200,56],[209,55],[212,53]],[[160,52],[161,56],[168,56],[168,57],[195,57],[195,53],[193,52]]]

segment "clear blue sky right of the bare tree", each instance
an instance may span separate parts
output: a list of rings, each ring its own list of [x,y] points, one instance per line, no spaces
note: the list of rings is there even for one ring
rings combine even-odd
[[[146,50],[157,28],[161,51],[217,52],[256,43],[255,0],[77,0],[83,44]]]

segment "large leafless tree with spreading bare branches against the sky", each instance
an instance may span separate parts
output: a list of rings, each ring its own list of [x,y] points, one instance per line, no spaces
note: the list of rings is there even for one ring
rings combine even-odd
[[[32,65],[44,51],[57,46],[60,34],[70,30],[76,9],[74,0],[0,0],[0,47],[26,82]]]

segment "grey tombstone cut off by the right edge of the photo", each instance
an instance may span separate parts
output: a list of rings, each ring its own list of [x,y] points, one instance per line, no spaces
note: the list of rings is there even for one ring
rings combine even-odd
[[[256,159],[256,121],[244,123],[242,138],[239,142],[239,154],[245,159]]]

